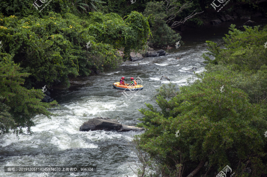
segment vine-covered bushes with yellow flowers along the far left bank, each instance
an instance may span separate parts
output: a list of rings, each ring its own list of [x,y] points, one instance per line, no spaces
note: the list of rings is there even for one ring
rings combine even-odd
[[[130,49],[142,48],[150,34],[146,18],[138,12],[124,21],[114,13],[95,12],[86,21],[51,12],[41,19],[3,17],[0,25],[0,52],[11,54],[23,72],[31,73],[33,82],[48,85],[58,81],[68,85],[68,76],[115,68],[122,62],[115,47],[125,47],[125,53],[129,53]],[[85,47],[88,41],[89,49]]]

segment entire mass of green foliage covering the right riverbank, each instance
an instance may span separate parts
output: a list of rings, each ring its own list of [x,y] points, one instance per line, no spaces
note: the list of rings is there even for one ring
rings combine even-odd
[[[139,126],[146,131],[134,141],[157,164],[147,163],[154,176],[213,177],[226,165],[235,176],[266,176],[267,31],[230,30],[225,49],[207,41],[215,59],[204,55],[206,72],[180,91],[164,85],[158,108],[147,104],[148,110],[140,110]]]

